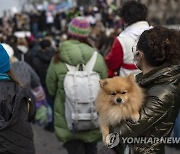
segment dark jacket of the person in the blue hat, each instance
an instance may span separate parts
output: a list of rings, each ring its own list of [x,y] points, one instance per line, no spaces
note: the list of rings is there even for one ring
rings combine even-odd
[[[31,93],[13,81],[0,80],[1,154],[35,154],[33,131],[29,123],[34,115]]]

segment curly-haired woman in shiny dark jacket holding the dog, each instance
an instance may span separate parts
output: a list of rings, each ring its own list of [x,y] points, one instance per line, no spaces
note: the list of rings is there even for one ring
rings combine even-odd
[[[123,138],[143,137],[165,139],[170,137],[180,108],[180,46],[179,32],[165,27],[146,30],[133,48],[134,60],[142,73],[137,82],[146,98],[137,122],[124,120],[110,127],[110,132]],[[165,143],[153,141],[133,143],[129,149],[134,154],[164,154]],[[123,153],[123,144],[114,147]]]

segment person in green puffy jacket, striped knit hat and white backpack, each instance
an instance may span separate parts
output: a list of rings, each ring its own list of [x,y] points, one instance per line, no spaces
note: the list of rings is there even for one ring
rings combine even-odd
[[[49,93],[55,96],[55,133],[68,154],[96,154],[101,139],[92,102],[99,79],[107,77],[107,68],[103,57],[88,43],[89,32],[89,24],[83,17],[70,22],[68,40],[60,44],[46,76]]]

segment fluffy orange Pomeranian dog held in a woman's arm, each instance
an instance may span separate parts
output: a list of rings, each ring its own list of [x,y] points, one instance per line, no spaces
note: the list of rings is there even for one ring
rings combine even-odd
[[[101,90],[96,99],[96,110],[99,115],[103,142],[108,144],[106,137],[109,134],[110,125],[116,125],[125,119],[138,121],[144,92],[132,74],[127,77],[100,80],[99,83]]]

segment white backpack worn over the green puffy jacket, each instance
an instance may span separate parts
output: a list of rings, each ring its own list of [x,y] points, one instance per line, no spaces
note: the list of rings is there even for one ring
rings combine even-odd
[[[95,100],[100,90],[100,77],[93,71],[96,59],[97,52],[94,52],[86,65],[66,64],[69,71],[64,79],[65,117],[68,128],[72,131],[98,127]]]

